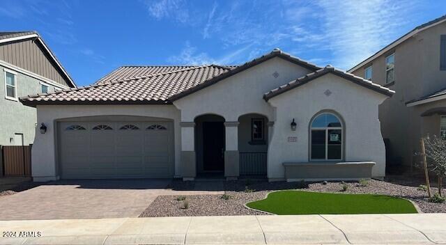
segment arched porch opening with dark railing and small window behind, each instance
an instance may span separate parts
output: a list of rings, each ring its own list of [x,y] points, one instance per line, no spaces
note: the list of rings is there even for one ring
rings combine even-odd
[[[240,175],[266,175],[268,118],[258,113],[249,113],[240,116],[238,122]]]

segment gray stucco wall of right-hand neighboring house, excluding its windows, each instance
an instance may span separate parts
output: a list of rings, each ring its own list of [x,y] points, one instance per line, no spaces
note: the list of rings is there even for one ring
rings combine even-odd
[[[440,70],[440,36],[446,34],[446,22],[431,26],[411,36],[367,64],[351,71],[364,77],[364,69],[372,66],[375,84],[395,90],[395,95],[379,107],[383,138],[389,139],[388,164],[414,166],[419,159],[420,138],[426,134],[440,134],[439,116],[421,117],[421,113],[435,106],[446,106],[446,101],[406,106],[410,100],[446,88],[446,70]],[[385,81],[385,57],[394,53],[392,84]]]

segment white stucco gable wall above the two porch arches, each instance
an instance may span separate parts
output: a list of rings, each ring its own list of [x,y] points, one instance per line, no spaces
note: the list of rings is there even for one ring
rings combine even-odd
[[[277,72],[279,77],[272,74]],[[194,121],[206,113],[217,113],[226,122],[237,121],[246,113],[259,113],[274,118],[271,106],[263,100],[263,93],[302,77],[311,71],[282,58],[272,58],[244,72],[203,88],[181,98],[174,104],[181,110],[181,120]]]

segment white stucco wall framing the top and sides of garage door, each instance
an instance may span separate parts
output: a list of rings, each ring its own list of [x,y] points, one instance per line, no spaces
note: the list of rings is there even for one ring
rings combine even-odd
[[[56,121],[82,116],[147,116],[174,120],[175,173],[180,173],[180,113],[173,105],[37,106],[38,124],[47,125],[46,134],[36,134],[32,149],[32,175],[37,181],[55,180],[57,173]]]

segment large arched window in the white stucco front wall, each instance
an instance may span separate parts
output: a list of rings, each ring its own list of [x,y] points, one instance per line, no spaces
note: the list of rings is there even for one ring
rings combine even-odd
[[[310,157],[312,160],[341,160],[342,123],[332,113],[321,113],[310,125]]]

